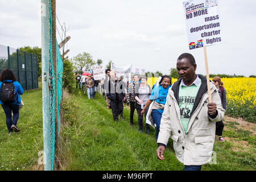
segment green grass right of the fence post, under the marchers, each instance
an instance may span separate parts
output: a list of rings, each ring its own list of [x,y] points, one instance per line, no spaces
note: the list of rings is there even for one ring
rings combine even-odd
[[[164,152],[165,160],[156,158],[155,130],[150,127],[150,135],[138,132],[137,113],[134,126],[129,123],[129,110],[124,109],[124,121],[114,122],[112,111],[106,109],[104,98],[88,100],[84,94],[75,94],[64,104],[70,113],[65,120],[62,133],[62,151],[64,170],[183,170],[175,156],[172,140]],[[72,109],[71,109],[72,108]],[[79,114],[77,114],[79,113]],[[144,122],[144,121],[143,121]],[[233,125],[232,125],[233,124]],[[232,123],[230,125],[239,125]],[[234,133],[233,133],[234,132]],[[224,137],[253,142],[255,136],[250,131],[227,130]],[[234,151],[234,148],[239,148]],[[68,152],[64,152],[68,151]],[[245,150],[236,142],[216,142],[213,151],[217,154],[217,164],[206,164],[202,170],[255,170],[255,146]],[[71,156],[67,159],[67,156]],[[71,160],[72,159],[72,160]]]

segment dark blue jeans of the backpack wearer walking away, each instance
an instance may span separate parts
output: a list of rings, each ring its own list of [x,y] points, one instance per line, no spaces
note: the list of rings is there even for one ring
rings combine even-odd
[[[3,111],[5,111],[6,116],[6,125],[9,132],[13,131],[11,129],[11,125],[15,125],[18,122],[19,119],[19,105],[2,105]],[[11,111],[13,111],[13,119],[11,119]]]

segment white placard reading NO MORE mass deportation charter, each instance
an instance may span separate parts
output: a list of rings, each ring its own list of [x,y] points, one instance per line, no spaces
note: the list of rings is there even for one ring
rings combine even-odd
[[[189,49],[221,42],[221,23],[217,0],[183,2]]]

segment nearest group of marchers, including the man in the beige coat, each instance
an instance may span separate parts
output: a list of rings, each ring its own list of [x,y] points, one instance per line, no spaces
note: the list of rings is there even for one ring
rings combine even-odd
[[[139,132],[143,131],[143,115],[146,133],[150,134],[150,125],[155,128],[158,159],[164,160],[164,150],[171,138],[176,157],[184,164],[185,171],[200,171],[203,164],[210,162],[215,135],[224,142],[221,135],[226,90],[219,77],[208,82],[203,75],[195,73],[196,67],[195,58],[183,53],[176,63],[180,77],[173,85],[171,78],[164,75],[151,89],[146,77],[134,75],[133,82],[127,86],[110,70],[106,70],[108,78],[104,82],[114,121],[118,121],[126,101],[130,105],[130,125],[134,124],[136,109]]]

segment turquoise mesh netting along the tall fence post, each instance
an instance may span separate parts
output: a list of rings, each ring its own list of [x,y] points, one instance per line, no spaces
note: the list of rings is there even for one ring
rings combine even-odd
[[[51,162],[52,170],[54,170],[55,161],[55,137],[59,133],[60,129],[60,100],[62,92],[62,76],[63,76],[63,62],[61,60],[59,46],[56,41],[56,77],[53,69],[52,60],[52,16],[51,16],[51,0],[49,2],[49,76],[52,77],[50,84],[50,134],[51,134]],[[55,79],[57,85],[55,86]],[[55,92],[57,92],[57,98],[55,98]],[[57,106],[55,106],[55,100],[57,100]],[[55,109],[57,109],[57,130],[55,129]],[[57,133],[56,133],[57,131]]]

